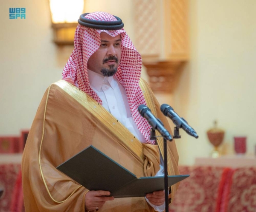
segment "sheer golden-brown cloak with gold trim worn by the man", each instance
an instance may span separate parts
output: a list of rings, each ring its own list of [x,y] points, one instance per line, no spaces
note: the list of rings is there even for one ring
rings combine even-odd
[[[166,117],[148,85],[141,80],[147,106],[169,132]],[[55,167],[89,145],[134,173],[154,176],[159,170],[163,141],[142,144],[104,107],[84,92],[60,80],[44,94],[33,121],[22,158],[22,181],[26,212],[84,212],[86,188]],[[175,141],[168,142],[168,173],[179,175]],[[118,176],[117,176],[118,177]],[[170,202],[178,184],[171,187]],[[99,211],[151,212],[144,197],[116,198]]]

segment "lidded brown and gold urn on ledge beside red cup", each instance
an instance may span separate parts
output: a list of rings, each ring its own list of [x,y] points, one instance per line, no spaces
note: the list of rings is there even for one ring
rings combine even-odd
[[[207,136],[209,141],[214,146],[211,156],[212,158],[218,158],[221,154],[218,150],[219,145],[221,145],[224,139],[225,131],[217,127],[217,121],[214,121],[214,127],[207,130]]]

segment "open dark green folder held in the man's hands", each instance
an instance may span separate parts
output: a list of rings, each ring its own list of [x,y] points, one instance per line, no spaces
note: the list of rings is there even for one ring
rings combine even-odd
[[[110,191],[115,198],[143,197],[164,189],[164,177],[137,178],[104,153],[89,146],[57,167],[89,190]],[[168,187],[189,175],[168,176]]]

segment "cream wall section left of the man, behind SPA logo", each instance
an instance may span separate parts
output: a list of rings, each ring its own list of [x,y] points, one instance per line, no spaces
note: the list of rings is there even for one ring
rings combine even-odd
[[[10,7],[25,7],[26,20],[9,20]],[[51,42],[47,0],[1,0],[0,11],[0,134],[19,134],[64,64]]]

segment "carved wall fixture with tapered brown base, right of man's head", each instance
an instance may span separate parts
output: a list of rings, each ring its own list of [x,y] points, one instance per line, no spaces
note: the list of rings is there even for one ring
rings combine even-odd
[[[189,59],[188,0],[134,0],[134,32],[152,90],[171,93]]]

